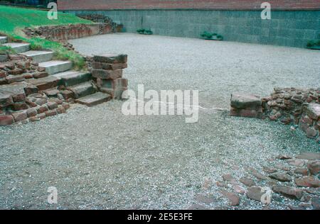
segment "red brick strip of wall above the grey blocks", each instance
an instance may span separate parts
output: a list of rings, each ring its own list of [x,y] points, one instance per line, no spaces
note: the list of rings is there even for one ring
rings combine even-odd
[[[58,0],[60,10],[260,9],[263,0]],[[320,9],[320,0],[268,0],[272,9]]]

